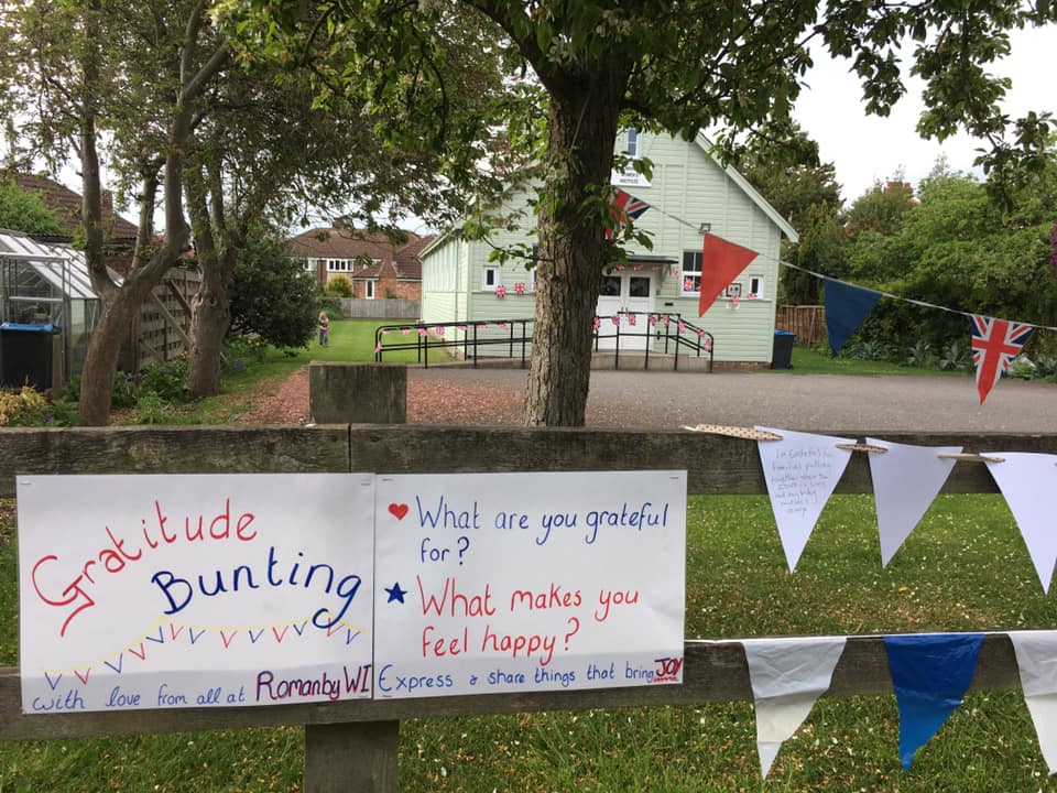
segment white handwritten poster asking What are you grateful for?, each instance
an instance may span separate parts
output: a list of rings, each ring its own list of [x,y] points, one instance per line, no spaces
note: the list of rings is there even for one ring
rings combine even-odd
[[[374,696],[683,680],[686,471],[380,476]]]

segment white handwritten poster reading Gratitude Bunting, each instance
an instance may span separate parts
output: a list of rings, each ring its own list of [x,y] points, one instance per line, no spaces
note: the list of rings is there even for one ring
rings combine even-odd
[[[25,713],[371,695],[372,475],[18,479]]]

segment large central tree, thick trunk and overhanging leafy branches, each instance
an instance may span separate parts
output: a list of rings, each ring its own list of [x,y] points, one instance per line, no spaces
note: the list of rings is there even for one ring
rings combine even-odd
[[[255,30],[277,51],[291,44],[276,32],[305,32],[301,0],[244,2],[260,11]],[[242,4],[228,2],[229,8]],[[849,59],[862,80],[865,109],[886,113],[905,91],[906,72],[895,51],[909,40],[909,70],[926,84],[923,133],[944,139],[967,128],[990,141],[987,166],[1009,175],[1020,173],[1017,162],[1039,165],[1048,131],[1048,117],[1012,122],[1001,112],[1007,85],[988,69],[1009,51],[1011,29],[1057,18],[1050,3],[982,0],[971,10],[939,0],[824,6],[814,0],[317,0],[308,6],[325,20],[310,31],[316,43],[327,42],[327,75],[336,78],[327,90],[368,97],[396,122],[389,127],[391,134],[447,146],[464,165],[476,165],[481,149],[473,142],[503,126],[511,130],[511,145],[526,145],[540,157],[528,424],[584,423],[590,317],[600,275],[618,256],[604,232],[622,124],[686,138],[709,129],[717,145],[732,152],[744,132],[791,122],[811,65],[813,40]],[[534,79],[515,75],[508,83],[510,90],[497,97],[490,118],[446,112],[449,51],[438,31],[456,19],[491,24],[490,46],[504,63],[520,64],[522,75],[528,68],[534,73]],[[438,124],[437,118],[445,122]],[[453,119],[457,122],[448,123]],[[457,170],[448,174],[458,181]]]

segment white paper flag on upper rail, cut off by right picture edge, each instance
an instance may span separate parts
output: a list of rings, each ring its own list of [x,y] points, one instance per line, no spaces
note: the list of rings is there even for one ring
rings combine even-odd
[[[984,457],[1000,457],[1002,463],[988,463],[988,470],[1010,506],[1020,526],[1032,564],[1049,591],[1057,562],[1057,525],[1053,506],[1045,495],[1057,491],[1057,455],[1032,452],[987,452]]]

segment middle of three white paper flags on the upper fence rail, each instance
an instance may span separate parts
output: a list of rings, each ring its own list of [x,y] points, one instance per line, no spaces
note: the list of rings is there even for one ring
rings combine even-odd
[[[960,454],[961,446],[907,446],[870,437],[867,443],[887,449],[870,455],[881,566],[885,567],[936,500],[955,467],[955,460],[939,454]]]

